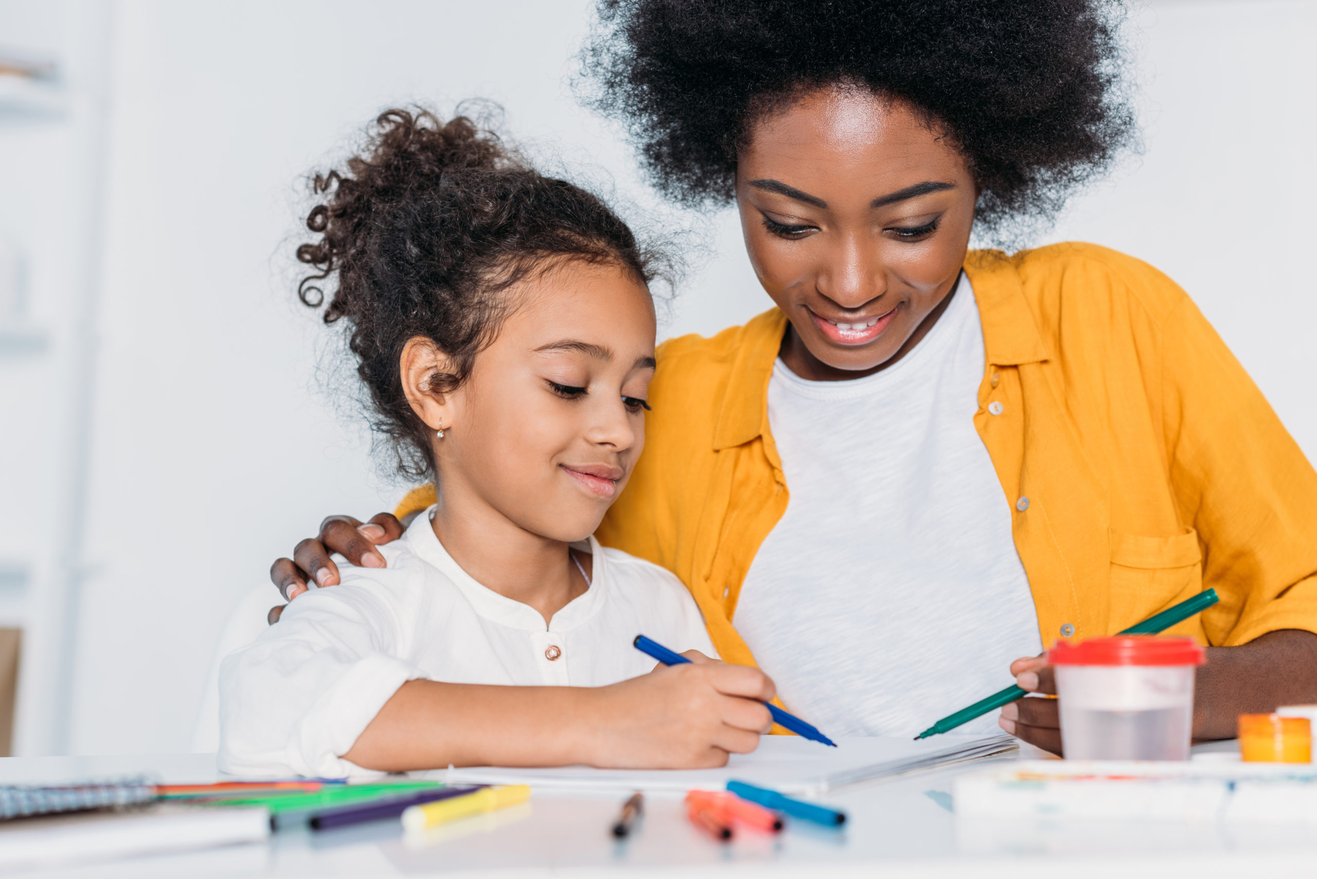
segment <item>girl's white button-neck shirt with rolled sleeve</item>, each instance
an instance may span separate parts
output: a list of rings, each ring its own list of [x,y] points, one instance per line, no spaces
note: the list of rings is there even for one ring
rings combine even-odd
[[[417,516],[379,547],[387,567],[336,559],[342,583],[288,604],[220,667],[220,768],[240,775],[371,775],[348,751],[407,680],[602,687],[655,661],[632,646],[716,657],[686,587],[619,550],[594,555],[589,590],[553,615],[477,583]]]

